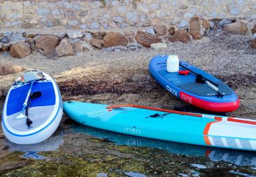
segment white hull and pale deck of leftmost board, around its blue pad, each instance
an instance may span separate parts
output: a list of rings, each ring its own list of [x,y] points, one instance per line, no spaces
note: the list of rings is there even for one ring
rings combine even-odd
[[[55,83],[53,78],[51,78],[47,74],[44,75],[47,78],[45,82],[48,82],[48,84],[52,83],[53,91],[55,92],[55,104],[51,106],[34,106],[33,108],[29,108],[29,118],[31,118],[31,120],[33,121],[31,125],[32,127],[30,129],[28,129],[26,125],[26,118],[16,118],[17,115],[20,114],[20,111],[15,112],[11,115],[10,113],[8,113],[8,99],[10,97],[11,91],[24,85],[20,85],[17,87],[12,86],[10,88],[8,95],[5,99],[1,124],[3,133],[5,137],[10,140],[10,142],[13,142],[15,144],[39,143],[53,135],[53,133],[59,126],[63,114],[63,104],[61,95],[59,93],[59,88],[57,87],[57,84]],[[45,82],[40,81],[38,82],[38,85],[44,84]],[[44,88],[42,87],[42,92],[43,89]],[[44,92],[42,94],[44,97],[43,99],[47,99],[47,94],[44,94]],[[53,98],[53,96],[51,98]]]

